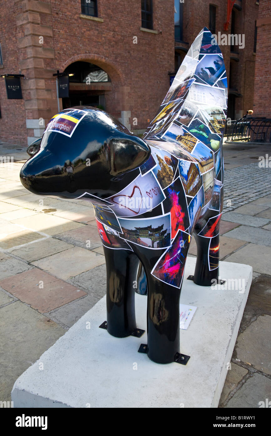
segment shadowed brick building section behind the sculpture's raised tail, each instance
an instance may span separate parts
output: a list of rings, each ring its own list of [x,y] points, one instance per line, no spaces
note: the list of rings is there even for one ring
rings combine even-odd
[[[270,0],[266,1],[270,4]],[[206,26],[217,36],[220,32],[218,43],[223,53],[228,78],[228,117],[237,119],[241,118],[247,110],[253,109],[257,37],[255,25],[259,2],[236,0],[230,16],[227,17],[228,3],[227,0],[184,1],[183,27],[180,37],[182,41],[176,41],[175,35],[175,64],[181,63],[185,55],[184,50],[189,48],[198,29]],[[224,30],[227,21],[229,21],[228,30]],[[223,45],[222,35],[227,35],[228,43],[234,39],[234,44]],[[241,44],[235,44],[237,39],[231,38],[231,35],[238,36]],[[242,45],[244,48],[239,48]]]

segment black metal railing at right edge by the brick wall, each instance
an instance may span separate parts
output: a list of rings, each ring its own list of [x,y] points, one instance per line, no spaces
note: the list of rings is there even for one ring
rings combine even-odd
[[[271,119],[243,117],[226,125],[228,141],[271,142]]]

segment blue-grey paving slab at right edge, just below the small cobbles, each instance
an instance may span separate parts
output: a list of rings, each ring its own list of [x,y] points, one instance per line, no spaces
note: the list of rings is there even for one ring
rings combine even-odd
[[[271,232],[262,228],[240,225],[224,234],[230,238],[241,239],[259,245],[271,246]]]

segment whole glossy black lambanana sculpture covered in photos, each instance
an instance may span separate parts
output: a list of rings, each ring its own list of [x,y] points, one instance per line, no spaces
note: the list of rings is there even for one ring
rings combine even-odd
[[[194,282],[218,279],[226,109],[223,57],[204,28],[144,139],[101,110],[65,109],[29,147],[20,172],[35,194],[94,205],[107,266],[107,330],[116,337],[134,332],[135,288],[140,281],[144,293],[147,283],[146,351],[158,363],[176,361],[180,351],[179,299],[192,234]]]

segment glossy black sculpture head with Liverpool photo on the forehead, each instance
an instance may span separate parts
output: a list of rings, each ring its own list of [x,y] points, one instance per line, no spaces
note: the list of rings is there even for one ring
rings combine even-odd
[[[151,154],[147,143],[106,112],[86,106],[64,109],[48,124],[20,180],[30,192],[107,198],[127,186]]]

